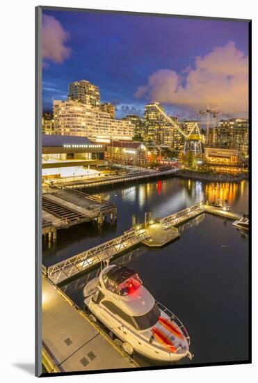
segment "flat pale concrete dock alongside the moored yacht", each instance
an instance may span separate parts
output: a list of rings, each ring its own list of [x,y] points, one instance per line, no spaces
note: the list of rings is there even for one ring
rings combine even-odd
[[[48,373],[138,367],[64,292],[42,278],[42,362]]]

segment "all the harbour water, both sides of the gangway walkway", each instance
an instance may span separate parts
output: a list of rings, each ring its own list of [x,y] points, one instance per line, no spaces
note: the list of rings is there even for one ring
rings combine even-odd
[[[117,225],[81,225],[58,233],[55,248],[43,253],[45,265],[89,249],[131,226],[131,214],[140,221],[152,211],[163,217],[203,199],[227,199],[232,209],[248,209],[248,181],[211,184],[172,178],[134,187],[121,187],[102,196],[118,206]],[[170,308],[191,336],[193,361],[209,363],[248,359],[248,234],[232,221],[210,214],[180,227],[182,236],[163,249],[139,247],[117,258],[136,269],[145,287]],[[82,290],[91,275],[81,276],[63,290],[83,306]],[[145,364],[147,362],[145,361]]]

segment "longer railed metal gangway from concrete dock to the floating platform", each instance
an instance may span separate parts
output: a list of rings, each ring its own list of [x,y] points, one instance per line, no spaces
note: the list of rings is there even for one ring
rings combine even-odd
[[[44,267],[42,272],[55,284],[83,272],[84,270],[108,260],[118,253],[133,247],[145,239],[145,230],[130,230],[114,240],[104,242],[92,249],[72,256],[62,262],[56,263],[48,268]]]

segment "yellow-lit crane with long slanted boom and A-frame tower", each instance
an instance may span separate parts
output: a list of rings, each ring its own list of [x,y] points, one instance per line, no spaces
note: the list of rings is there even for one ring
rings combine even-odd
[[[194,153],[194,155],[202,155],[203,153],[203,148],[202,148],[202,135],[200,134],[200,129],[197,125],[197,123],[195,123],[193,125],[193,128],[191,130],[190,133],[186,134],[186,132],[184,132],[184,130],[181,129],[181,127],[179,127],[177,125],[177,123],[175,123],[175,121],[172,120],[172,118],[170,118],[160,107],[159,107],[159,104],[157,102],[154,102],[154,105],[156,107],[156,109],[159,110],[159,112],[161,113],[161,115],[163,117],[166,118],[166,120],[168,120],[168,122],[173,126],[175,127],[175,129],[178,130],[179,133],[182,134],[182,136],[184,136],[184,149],[183,149],[183,154],[186,154],[188,152],[192,152]]]

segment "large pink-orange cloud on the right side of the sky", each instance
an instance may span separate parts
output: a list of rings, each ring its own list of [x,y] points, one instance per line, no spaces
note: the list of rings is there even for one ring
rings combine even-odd
[[[135,96],[197,111],[209,104],[224,114],[248,114],[248,57],[234,42],[195,58],[194,68],[181,74],[170,69],[154,72]]]

